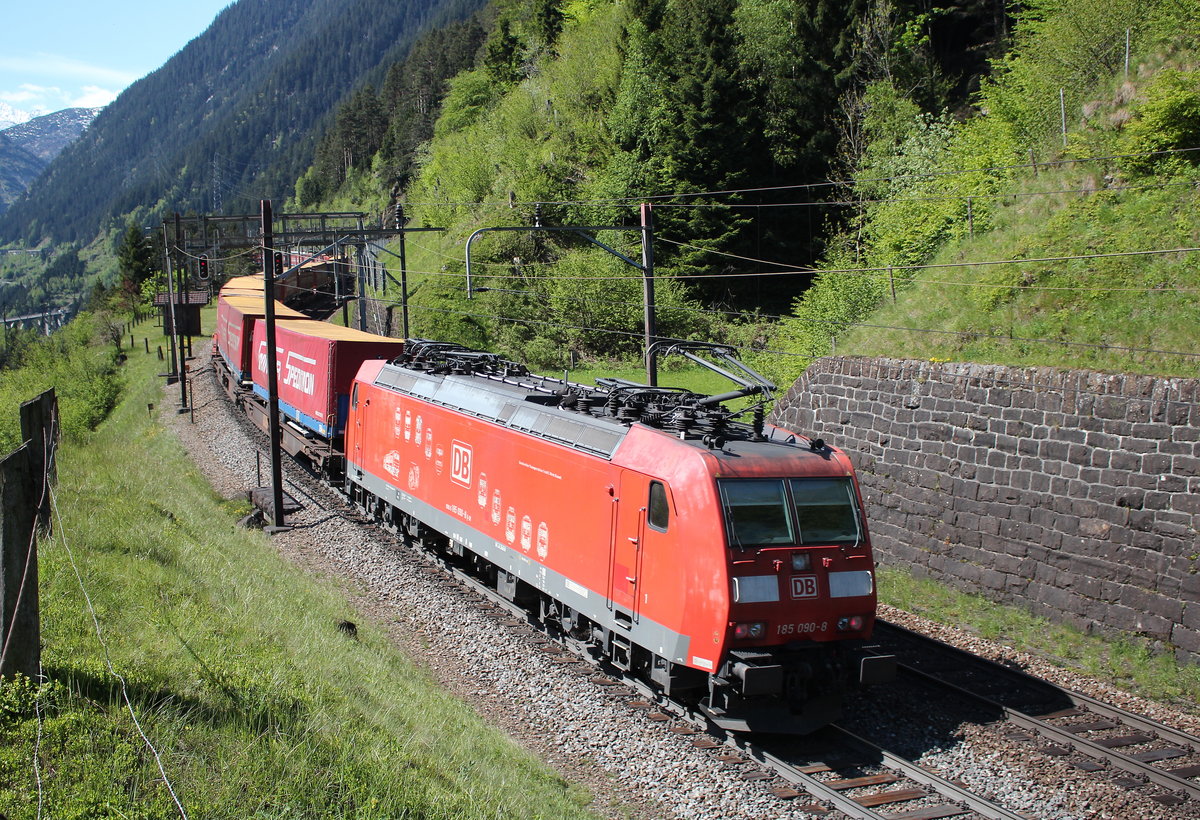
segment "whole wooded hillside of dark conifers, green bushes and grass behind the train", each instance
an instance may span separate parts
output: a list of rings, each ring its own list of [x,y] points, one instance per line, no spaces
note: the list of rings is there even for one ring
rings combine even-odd
[[[437,66],[361,88],[290,205],[445,228],[408,240],[413,333],[547,369],[640,354],[650,203],[659,334],[780,383],[833,352],[1195,375],[1196,19],[1194,0],[498,0],[437,35],[454,48],[425,42]],[[433,100],[418,71],[444,78]],[[467,237],[535,221],[624,228],[589,235],[626,259],[488,233],[468,294]]]

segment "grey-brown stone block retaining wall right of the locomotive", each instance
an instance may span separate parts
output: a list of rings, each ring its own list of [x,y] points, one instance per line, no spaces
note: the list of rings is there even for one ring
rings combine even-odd
[[[880,563],[1200,660],[1200,381],[828,358],[772,419],[852,455]]]

